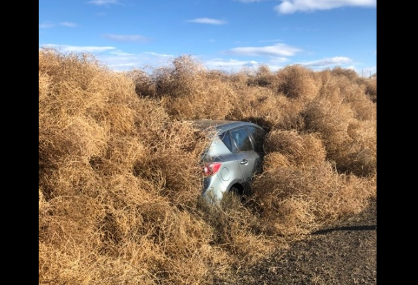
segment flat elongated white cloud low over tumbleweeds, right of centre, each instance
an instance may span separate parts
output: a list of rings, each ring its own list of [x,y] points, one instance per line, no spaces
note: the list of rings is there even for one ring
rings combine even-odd
[[[231,50],[225,51],[229,55],[240,55],[240,56],[268,56],[268,57],[289,57],[296,55],[301,52],[299,48],[288,46],[287,44],[275,44],[274,46],[247,46],[240,48],[232,48]]]

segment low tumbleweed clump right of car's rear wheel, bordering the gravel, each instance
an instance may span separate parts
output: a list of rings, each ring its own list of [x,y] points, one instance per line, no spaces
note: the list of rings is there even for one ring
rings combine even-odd
[[[363,210],[374,188],[365,178],[336,173],[330,163],[272,167],[254,182],[253,197],[269,232],[305,235]]]

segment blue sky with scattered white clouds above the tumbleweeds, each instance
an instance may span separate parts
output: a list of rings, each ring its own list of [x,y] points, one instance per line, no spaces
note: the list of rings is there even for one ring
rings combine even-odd
[[[191,55],[238,72],[302,64],[377,73],[377,0],[39,0],[39,46],[115,71]]]

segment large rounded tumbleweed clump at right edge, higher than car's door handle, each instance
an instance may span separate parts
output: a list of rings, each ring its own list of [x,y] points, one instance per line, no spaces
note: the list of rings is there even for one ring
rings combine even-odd
[[[372,106],[370,111],[374,111]],[[304,111],[305,129],[321,134],[327,158],[340,172],[373,175],[377,169],[377,118],[357,120],[350,103],[321,98]]]

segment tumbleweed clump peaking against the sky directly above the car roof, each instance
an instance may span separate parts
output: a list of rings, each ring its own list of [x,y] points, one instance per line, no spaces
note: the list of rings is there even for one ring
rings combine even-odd
[[[154,77],[162,106],[176,119],[224,119],[236,102],[222,73],[208,73],[191,57],[178,57]]]

